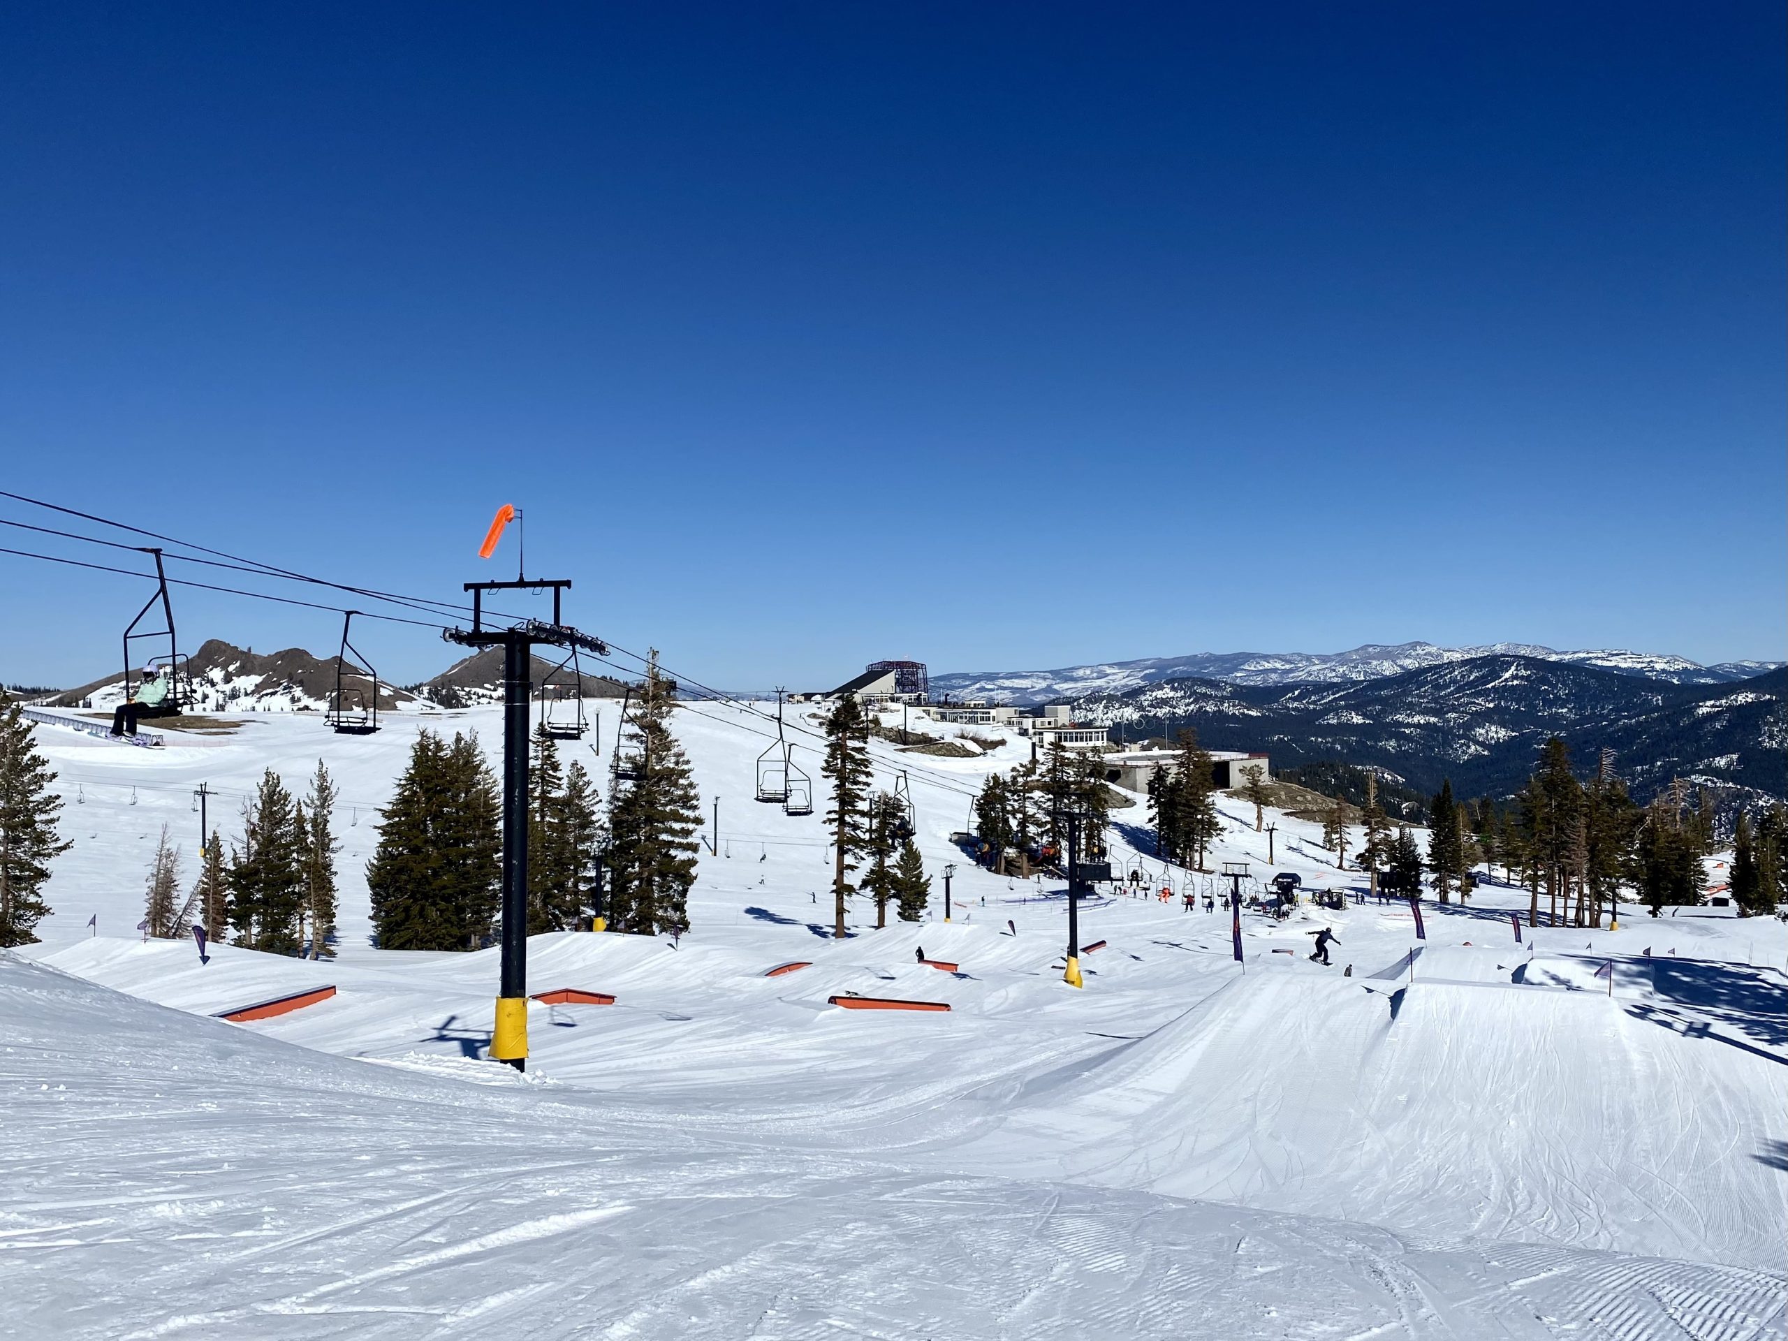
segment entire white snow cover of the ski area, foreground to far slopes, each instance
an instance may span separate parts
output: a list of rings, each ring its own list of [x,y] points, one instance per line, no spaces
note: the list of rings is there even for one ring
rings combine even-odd
[[[443,724],[499,737],[493,710]],[[874,746],[908,769],[933,915],[876,930],[860,901],[835,942],[821,815],[755,805],[763,722],[696,704],[678,733],[721,830],[694,933],[535,937],[529,991],[617,1001],[533,1007],[522,1076],[481,1060],[495,951],[367,946],[374,806],[417,726],[250,715],[159,753],[38,728],[77,848],[45,942],[0,955],[0,1336],[1784,1336],[1781,923],[1629,910],[1516,946],[1525,892],[1491,887],[1425,903],[1425,942],[1407,908],[1246,914],[1237,966],[1221,912],[1096,898],[1076,992],[1060,887],[949,844],[1017,746]],[[347,797],[336,960],[200,964],[129,930],[161,822],[195,846],[193,787],[229,835],[263,767],[302,790],[318,756]],[[1212,864],[1361,883],[1271,812],[1268,867],[1223,808]],[[1123,862],[1146,815],[1116,821]]]

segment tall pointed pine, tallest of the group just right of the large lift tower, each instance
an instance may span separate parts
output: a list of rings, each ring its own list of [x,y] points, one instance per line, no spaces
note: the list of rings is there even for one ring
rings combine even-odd
[[[696,883],[701,796],[688,756],[670,733],[676,704],[656,653],[638,704],[622,744],[638,778],[620,785],[608,819],[608,917],[617,932],[683,935]]]

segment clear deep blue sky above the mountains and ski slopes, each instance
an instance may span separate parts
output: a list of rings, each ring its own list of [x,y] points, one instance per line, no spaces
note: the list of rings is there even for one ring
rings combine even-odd
[[[513,502],[578,624],[735,687],[1781,658],[1783,27],[13,5],[4,486],[447,597]],[[0,554],[0,676],[100,674],[141,599]],[[181,601],[188,644],[336,637]]]

